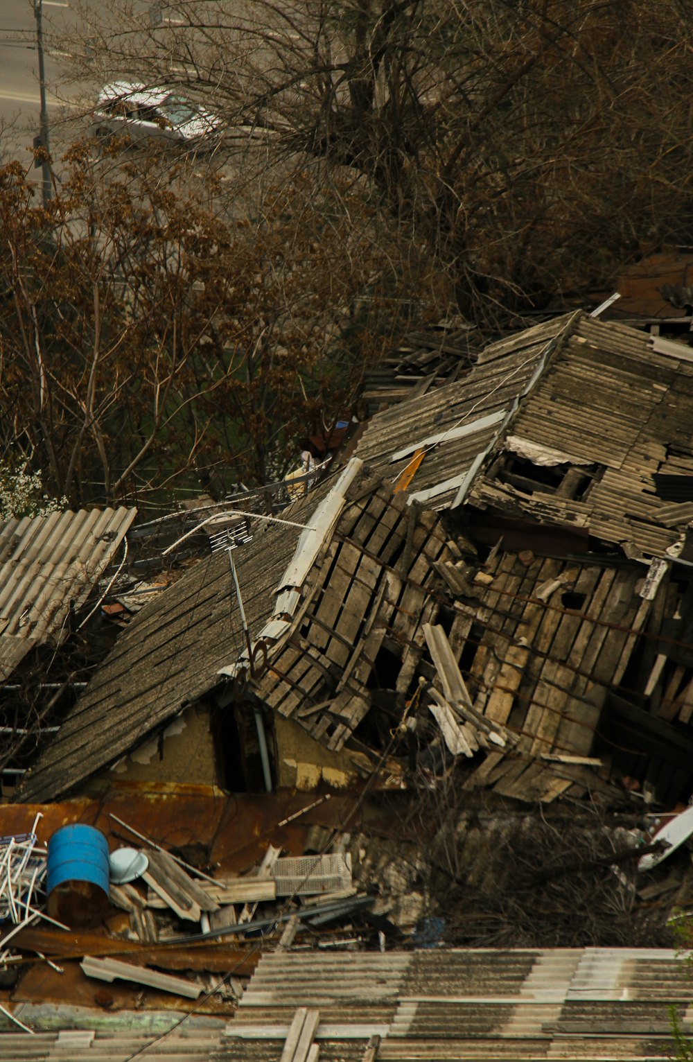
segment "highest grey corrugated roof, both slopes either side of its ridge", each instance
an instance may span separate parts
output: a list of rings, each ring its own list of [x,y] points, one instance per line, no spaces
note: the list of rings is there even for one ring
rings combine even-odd
[[[689,520],[693,350],[585,313],[496,343],[464,380],[374,417],[358,447],[413,497],[588,530],[660,556]],[[421,457],[421,451],[422,457]]]

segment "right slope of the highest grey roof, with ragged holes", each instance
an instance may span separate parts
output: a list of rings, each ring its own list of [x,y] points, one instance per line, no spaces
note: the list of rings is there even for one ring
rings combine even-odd
[[[498,446],[501,460],[478,477],[469,501],[588,528],[630,556],[662,555],[680,527],[655,476],[693,475],[692,412],[689,347],[670,343],[658,353],[643,332],[583,315],[521,402]]]

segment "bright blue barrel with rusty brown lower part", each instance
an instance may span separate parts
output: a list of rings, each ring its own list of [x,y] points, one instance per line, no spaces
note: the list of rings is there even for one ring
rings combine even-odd
[[[108,905],[108,842],[101,830],[75,823],[48,842],[48,912],[69,926],[96,925]]]

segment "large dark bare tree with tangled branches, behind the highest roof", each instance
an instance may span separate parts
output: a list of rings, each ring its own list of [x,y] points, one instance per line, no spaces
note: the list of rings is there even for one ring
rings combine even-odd
[[[98,15],[85,0],[70,51],[74,76],[164,83],[218,110],[248,174],[350,173],[334,208],[362,198],[394,219],[400,255],[426,246],[483,322],[690,242],[689,14],[679,0],[114,0]]]

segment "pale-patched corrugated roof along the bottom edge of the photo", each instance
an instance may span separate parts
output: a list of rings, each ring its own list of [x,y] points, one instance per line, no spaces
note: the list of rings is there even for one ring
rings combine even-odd
[[[274,954],[250,980],[223,1057],[278,1062],[302,1006],[319,1010],[320,1059],[364,1059],[374,1033],[382,1062],[665,1059],[670,1008],[689,1029],[689,999],[686,964],[671,950]]]

